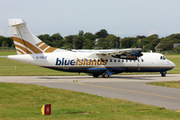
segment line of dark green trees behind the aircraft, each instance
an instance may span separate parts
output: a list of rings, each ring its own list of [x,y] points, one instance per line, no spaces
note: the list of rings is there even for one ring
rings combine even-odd
[[[162,51],[173,50],[174,43],[180,43],[180,34],[172,34],[159,38],[157,34],[150,36],[136,36],[121,38],[114,34],[109,34],[107,30],[92,34],[84,33],[80,30],[76,35],[68,35],[64,38],[60,33],[53,35],[42,34],[37,36],[46,44],[61,49],[115,49],[115,48],[142,48],[143,51],[153,50],[155,47]],[[0,47],[14,47],[12,37],[0,36]],[[180,51],[180,46],[177,47]]]

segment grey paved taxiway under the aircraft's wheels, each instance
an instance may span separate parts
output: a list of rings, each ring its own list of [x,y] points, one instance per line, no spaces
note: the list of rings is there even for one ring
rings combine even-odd
[[[120,98],[134,102],[180,110],[180,89],[158,87],[146,83],[179,81],[180,74],[118,75],[110,78],[92,76],[0,76],[0,82],[44,85],[103,97]]]

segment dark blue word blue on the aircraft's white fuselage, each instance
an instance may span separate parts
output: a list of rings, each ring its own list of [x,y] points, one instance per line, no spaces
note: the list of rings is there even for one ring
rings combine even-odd
[[[56,59],[56,65],[75,65],[75,63],[75,60],[66,60],[65,58],[62,58],[62,60],[59,58]]]

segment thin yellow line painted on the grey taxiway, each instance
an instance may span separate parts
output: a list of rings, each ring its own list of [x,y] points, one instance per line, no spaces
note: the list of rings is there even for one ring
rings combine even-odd
[[[152,93],[145,93],[145,92],[139,92],[139,91],[133,91],[133,90],[126,90],[126,89],[120,89],[120,88],[112,88],[112,87],[106,87],[106,86],[85,84],[85,83],[80,83],[77,80],[74,80],[73,82],[76,83],[76,84],[81,84],[81,85],[88,85],[88,86],[94,86],[94,87],[101,87],[101,88],[108,88],[108,89],[114,89],[114,90],[128,91],[128,92],[133,92],[133,93],[146,94],[146,95],[152,95],[152,96],[158,96],[158,97],[164,97],[164,98],[171,98],[171,99],[180,100],[180,98],[176,98],[176,97],[170,97],[170,96],[164,96],[164,95],[158,95],[158,94],[152,94]]]

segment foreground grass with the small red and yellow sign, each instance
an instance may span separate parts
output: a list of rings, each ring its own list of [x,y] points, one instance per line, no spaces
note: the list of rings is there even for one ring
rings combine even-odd
[[[38,85],[0,83],[0,119],[175,120],[180,114],[150,105]],[[42,116],[43,104],[52,115]]]

